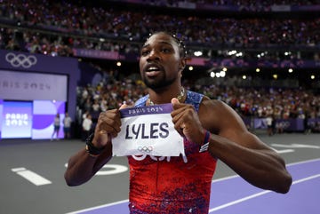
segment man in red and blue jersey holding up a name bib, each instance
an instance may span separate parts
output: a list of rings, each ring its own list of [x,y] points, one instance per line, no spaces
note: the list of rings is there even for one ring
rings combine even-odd
[[[184,45],[165,32],[150,36],[141,49],[140,75],[148,95],[136,107],[172,103],[172,123],[184,138],[186,159],[128,156],[131,213],[208,213],[217,159],[254,186],[287,193],[292,177],[284,160],[247,131],[231,107],[184,90],[185,66]],[[69,186],[88,181],[110,160],[120,126],[119,109],[100,114],[94,137],[68,162]]]

